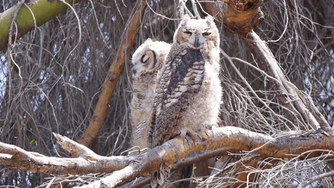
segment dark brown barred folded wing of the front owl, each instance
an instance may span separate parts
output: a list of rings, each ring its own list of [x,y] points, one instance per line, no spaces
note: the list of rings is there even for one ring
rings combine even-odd
[[[178,123],[189,107],[189,98],[200,91],[204,79],[205,62],[198,49],[183,49],[167,58],[157,84],[152,117],[152,146],[180,134]]]

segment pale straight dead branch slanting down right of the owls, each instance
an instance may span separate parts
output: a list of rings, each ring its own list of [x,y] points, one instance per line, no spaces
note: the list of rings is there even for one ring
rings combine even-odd
[[[279,81],[269,80],[274,89],[278,91],[277,94],[280,103],[289,109],[288,113],[290,117],[302,120],[304,125],[310,125],[314,130],[321,127],[329,134],[333,134],[333,130],[326,120],[324,120],[325,118],[319,111],[318,113],[316,112],[317,110],[313,107],[314,105],[312,106],[312,99],[305,97],[306,95],[301,95],[301,91],[287,80],[266,43],[254,31],[247,33],[244,37],[244,42],[248,46],[248,49],[258,60],[259,68]],[[299,114],[299,116],[296,117],[295,114]]]

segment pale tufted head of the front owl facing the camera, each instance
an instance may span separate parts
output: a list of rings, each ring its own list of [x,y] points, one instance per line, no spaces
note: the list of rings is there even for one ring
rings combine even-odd
[[[205,19],[191,19],[189,15],[184,15],[177,31],[174,33],[174,43],[186,44],[193,49],[200,49],[205,42],[214,42],[214,46],[219,46],[218,29],[214,24],[212,16]]]

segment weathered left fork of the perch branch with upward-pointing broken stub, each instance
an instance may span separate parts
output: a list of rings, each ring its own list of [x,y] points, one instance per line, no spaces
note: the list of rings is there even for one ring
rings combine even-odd
[[[74,141],[54,134],[58,143],[67,151],[75,151],[79,158],[47,157],[35,152],[27,152],[22,148],[6,143],[0,143],[0,164],[11,169],[31,171],[33,173],[46,174],[87,174],[110,172],[110,169],[122,169],[128,165],[127,160],[132,157],[103,157],[96,155],[85,146],[80,146]],[[73,147],[72,143],[81,149]],[[67,149],[66,149],[67,148]],[[68,148],[74,148],[69,150]],[[88,154],[88,155],[87,155]],[[122,164],[125,163],[125,164]]]

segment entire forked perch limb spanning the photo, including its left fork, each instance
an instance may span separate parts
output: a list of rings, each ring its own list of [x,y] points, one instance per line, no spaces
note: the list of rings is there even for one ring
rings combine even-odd
[[[223,148],[220,150],[221,152],[214,152],[207,157],[226,155],[228,151],[246,155],[250,152],[263,157],[292,158],[295,157],[294,155],[300,155],[308,150],[331,150],[334,147],[334,137],[321,132],[289,132],[285,136],[273,138],[237,127],[219,127],[208,130],[207,135],[209,139],[206,141],[200,139],[192,141],[189,138],[185,143],[180,137],[176,137],[136,157],[102,157],[100,155],[87,157],[85,156],[86,153],[91,152],[87,152],[89,149],[86,147],[82,153],[79,149],[75,149],[79,158],[45,157],[33,155],[31,152],[26,152],[17,146],[1,143],[0,152],[3,154],[0,155],[0,165],[8,166],[11,169],[59,175],[113,172],[108,177],[93,184],[113,187],[119,185],[120,182],[127,182],[157,171],[161,163],[171,165],[187,155],[205,150]],[[64,141],[63,136],[56,134],[56,137],[58,142]],[[67,146],[68,148],[71,148],[70,145],[72,145],[72,141],[67,139],[61,143],[61,146]],[[312,152],[307,157],[318,156],[321,153]],[[199,160],[202,160],[202,157],[198,157]],[[198,161],[193,159],[191,162]]]

